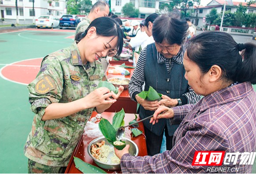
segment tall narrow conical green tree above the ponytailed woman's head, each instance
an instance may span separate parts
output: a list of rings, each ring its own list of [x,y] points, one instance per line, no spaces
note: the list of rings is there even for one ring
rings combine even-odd
[[[242,3],[239,4],[239,7],[237,7],[236,13],[235,13],[235,18],[236,20],[234,21],[234,26],[236,27],[242,27],[246,23],[246,18],[247,18],[247,7],[244,7]]]

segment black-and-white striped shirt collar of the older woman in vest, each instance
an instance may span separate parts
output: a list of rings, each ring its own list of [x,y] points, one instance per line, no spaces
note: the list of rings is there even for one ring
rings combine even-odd
[[[175,61],[177,64],[182,64],[184,52],[185,52],[185,45],[183,44],[179,50],[179,53],[176,56],[172,57],[172,60]],[[162,54],[157,52],[157,63],[163,64],[166,61],[170,61],[170,59],[164,57]]]

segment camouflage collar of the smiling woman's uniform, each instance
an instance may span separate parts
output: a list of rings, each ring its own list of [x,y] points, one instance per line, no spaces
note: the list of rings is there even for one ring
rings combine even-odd
[[[79,49],[77,47],[77,41],[74,41],[74,43],[71,45],[71,64],[76,66],[85,66],[82,63],[81,54],[79,52]],[[89,63],[90,67],[95,67],[95,62]]]

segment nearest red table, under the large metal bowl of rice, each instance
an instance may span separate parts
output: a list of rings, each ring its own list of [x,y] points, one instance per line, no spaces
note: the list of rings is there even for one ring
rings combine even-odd
[[[96,112],[93,112],[91,117],[95,117],[96,116]],[[112,121],[112,118],[114,116],[115,113],[111,113],[111,112],[104,112],[102,113],[102,117],[104,117],[105,119],[108,119],[110,122]],[[135,119],[135,115],[134,114],[125,114],[125,125],[128,125],[128,123],[131,120]],[[144,133],[144,126],[141,123],[139,123],[139,130],[141,130]],[[139,149],[139,153],[138,156],[145,156],[147,155],[147,147],[146,147],[146,141],[145,141],[145,137],[144,135],[139,135],[138,137],[132,137],[131,138],[131,131],[125,132],[125,137],[130,138],[132,141],[134,141],[137,145],[138,145],[138,149]],[[89,156],[88,152],[87,152],[87,147],[88,144],[93,140],[94,138],[90,138],[87,137],[85,134],[81,137],[80,141],[77,144],[77,147],[75,148],[72,157],[68,163],[67,169],[65,171],[65,174],[82,174],[81,171],[79,171],[75,165],[74,165],[74,158],[78,157],[81,160],[85,161],[86,163],[92,164],[94,166],[97,166],[97,164],[94,163],[93,159]],[[97,166],[98,167],[98,166]],[[105,170],[107,173],[113,173],[114,171],[108,171]],[[117,171],[118,173],[121,173],[121,171]]]

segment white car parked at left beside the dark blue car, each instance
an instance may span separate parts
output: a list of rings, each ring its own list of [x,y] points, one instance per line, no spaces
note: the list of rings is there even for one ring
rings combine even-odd
[[[54,16],[51,15],[44,15],[44,16],[40,16],[38,17],[38,19],[36,19],[36,26],[37,28],[40,27],[58,27],[59,26],[60,21],[57,20]]]

